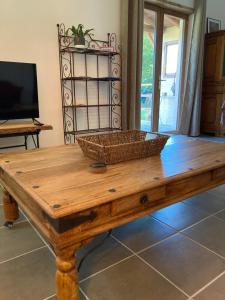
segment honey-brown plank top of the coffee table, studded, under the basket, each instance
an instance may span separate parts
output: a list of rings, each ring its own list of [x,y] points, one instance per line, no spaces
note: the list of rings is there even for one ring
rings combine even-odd
[[[89,171],[91,162],[78,145],[63,145],[2,154],[0,172],[25,190],[49,216],[61,218],[178,177],[225,166],[225,145],[182,140],[166,146],[160,156],[110,165],[102,174]],[[56,204],[60,207],[54,208]]]

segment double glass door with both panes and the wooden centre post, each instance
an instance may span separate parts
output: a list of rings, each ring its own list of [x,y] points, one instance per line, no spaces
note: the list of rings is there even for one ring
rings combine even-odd
[[[142,130],[177,130],[186,20],[185,15],[146,4],[140,99]]]

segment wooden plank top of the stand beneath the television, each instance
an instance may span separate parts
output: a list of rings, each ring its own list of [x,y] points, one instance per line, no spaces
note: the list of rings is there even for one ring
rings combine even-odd
[[[48,124],[35,125],[31,122],[21,123],[4,123],[0,125],[0,135],[13,134],[13,133],[25,133],[25,132],[37,132],[39,130],[52,130],[53,127]]]

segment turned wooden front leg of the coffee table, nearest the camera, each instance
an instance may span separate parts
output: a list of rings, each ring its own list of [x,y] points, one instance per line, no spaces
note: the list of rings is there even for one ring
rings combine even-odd
[[[79,300],[78,271],[74,251],[56,253],[57,300]]]

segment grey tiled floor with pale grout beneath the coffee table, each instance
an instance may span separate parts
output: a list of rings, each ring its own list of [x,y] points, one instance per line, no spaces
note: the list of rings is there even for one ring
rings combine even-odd
[[[0,300],[56,300],[49,248],[24,216],[12,230],[3,223],[0,200]],[[113,230],[80,287],[81,300],[224,300],[225,186]]]

